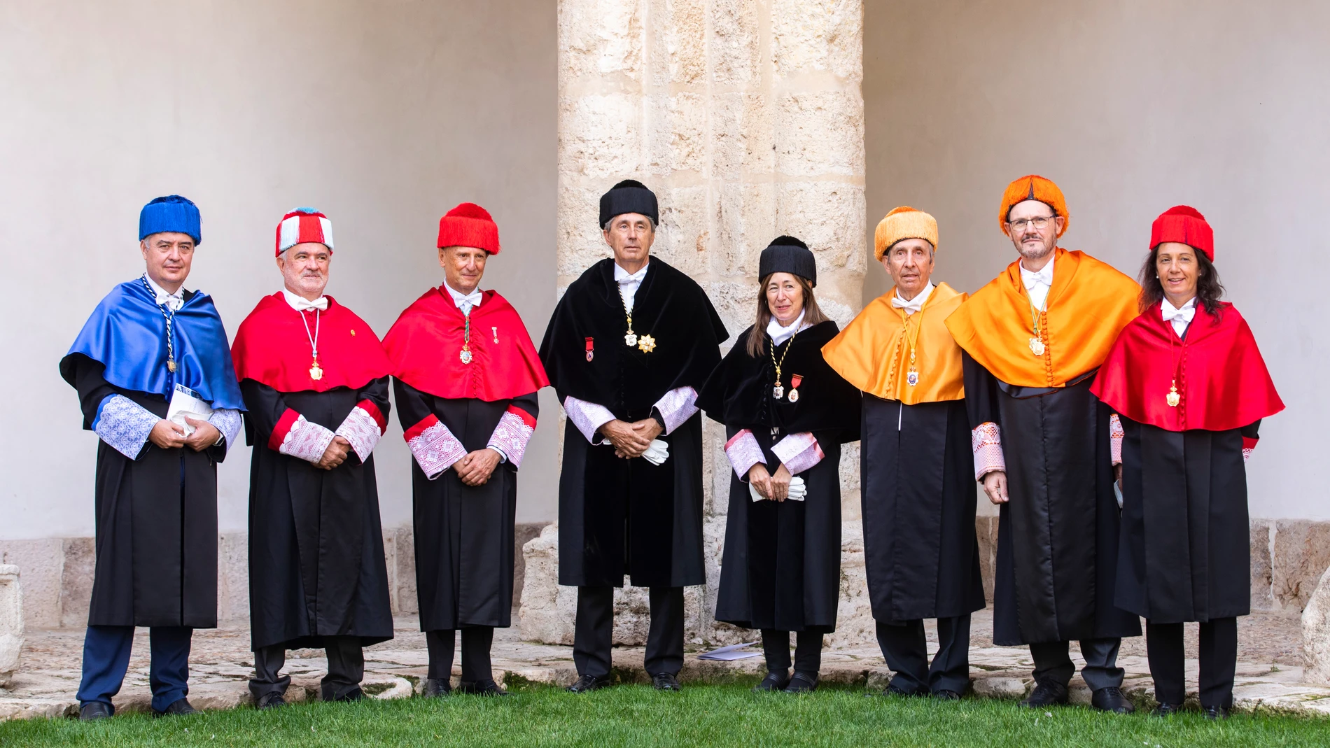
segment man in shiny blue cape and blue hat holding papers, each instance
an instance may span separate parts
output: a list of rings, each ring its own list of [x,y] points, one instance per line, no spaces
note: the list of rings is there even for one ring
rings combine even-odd
[[[200,215],[170,195],[144,206],[144,275],[97,304],[60,376],[97,442],[97,571],[80,717],[109,717],[136,626],[150,627],[153,711],[192,713],[194,628],[217,626],[217,464],[245,409],[213,300],[184,287]]]

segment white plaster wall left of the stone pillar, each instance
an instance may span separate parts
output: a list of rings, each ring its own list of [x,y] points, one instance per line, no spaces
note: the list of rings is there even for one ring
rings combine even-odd
[[[537,0],[0,3],[0,538],[93,531],[96,437],[56,364],[142,271],[138,209],[156,195],[200,205],[186,286],[214,295],[233,335],[281,287],[273,231],[293,206],[331,217],[329,292],[383,335],[442,279],[442,213],[479,202],[504,246],[484,286],[539,343],[555,300],[555,4]],[[543,405],[519,521],[555,515],[557,403]],[[384,525],[411,517],[391,421]],[[247,453],[219,469],[223,531],[246,526]]]

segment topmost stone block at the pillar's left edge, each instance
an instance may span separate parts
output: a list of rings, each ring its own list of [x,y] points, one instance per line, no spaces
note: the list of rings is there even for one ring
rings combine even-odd
[[[559,3],[560,86],[616,76],[640,81],[644,66],[641,3]]]

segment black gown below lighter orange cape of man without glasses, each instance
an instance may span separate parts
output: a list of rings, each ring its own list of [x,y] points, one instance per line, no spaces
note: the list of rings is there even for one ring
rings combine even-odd
[[[872,618],[900,624],[984,607],[964,400],[863,396],[861,506]]]

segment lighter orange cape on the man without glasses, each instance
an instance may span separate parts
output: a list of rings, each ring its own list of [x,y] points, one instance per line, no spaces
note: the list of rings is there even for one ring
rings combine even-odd
[[[960,400],[966,396],[960,371],[960,347],[944,320],[966,295],[939,283],[923,308],[912,315],[891,306],[891,288],[863,307],[839,335],[822,347],[822,357],[846,381],[883,400],[906,405]],[[919,384],[906,381],[910,371],[910,337],[915,339],[915,371]]]

